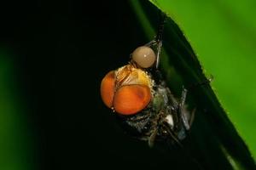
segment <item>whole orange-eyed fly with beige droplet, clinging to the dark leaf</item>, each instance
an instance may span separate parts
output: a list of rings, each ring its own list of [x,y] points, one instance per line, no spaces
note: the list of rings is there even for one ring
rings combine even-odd
[[[159,63],[165,22],[153,41],[136,48],[127,65],[109,71],[101,83],[102,101],[133,137],[148,142],[180,144],[186,137],[194,111],[186,109],[187,89],[174,98],[161,78]]]

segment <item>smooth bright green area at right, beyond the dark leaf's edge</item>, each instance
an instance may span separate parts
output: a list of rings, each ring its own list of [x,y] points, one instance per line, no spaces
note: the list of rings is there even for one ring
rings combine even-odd
[[[152,0],[183,30],[231,122],[256,157],[256,1]]]

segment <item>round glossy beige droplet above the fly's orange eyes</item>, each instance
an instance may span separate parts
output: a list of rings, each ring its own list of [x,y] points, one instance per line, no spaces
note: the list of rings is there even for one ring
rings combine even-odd
[[[154,64],[156,56],[152,48],[146,46],[136,48],[132,53],[132,60],[134,60],[137,65],[148,68]]]

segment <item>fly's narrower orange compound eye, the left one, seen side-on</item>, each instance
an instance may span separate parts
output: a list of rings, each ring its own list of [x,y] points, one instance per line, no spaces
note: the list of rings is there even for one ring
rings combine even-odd
[[[105,105],[109,108],[113,105],[113,92],[114,92],[114,71],[108,72],[108,74],[102,79],[101,95]]]

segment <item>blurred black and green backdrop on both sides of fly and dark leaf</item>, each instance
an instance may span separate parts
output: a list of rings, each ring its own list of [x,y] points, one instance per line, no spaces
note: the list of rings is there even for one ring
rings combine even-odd
[[[255,3],[171,2],[154,1],[181,26],[255,153]],[[127,137],[102,104],[102,77],[148,41],[130,3],[1,2],[1,170],[152,169],[170,160],[192,168],[178,150],[149,150]]]

